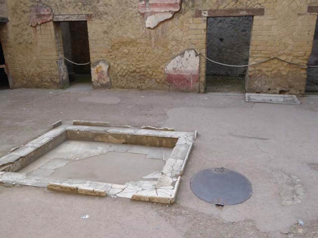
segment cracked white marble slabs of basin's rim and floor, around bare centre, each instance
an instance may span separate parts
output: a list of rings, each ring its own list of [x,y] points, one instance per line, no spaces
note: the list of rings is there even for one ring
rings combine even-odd
[[[12,163],[13,161],[13,167],[11,166],[11,164],[9,164],[9,166],[11,166],[13,169],[16,168],[17,170],[19,170],[20,168],[24,168],[25,163],[22,163],[21,158],[30,155],[40,155],[39,149],[41,146],[47,146],[47,148],[50,149],[51,146],[53,146],[52,148],[54,148],[55,146],[59,145],[59,147],[62,148],[61,150],[59,150],[59,153],[54,154],[51,153],[52,151],[49,151],[44,156],[40,155],[44,157],[44,160],[42,160],[41,162],[38,162],[37,160],[33,162],[38,163],[37,168],[31,171],[29,170],[30,172],[28,173],[28,175],[23,173],[10,173],[0,171],[0,182],[45,188],[48,184],[53,183],[54,185],[55,183],[57,187],[65,187],[66,190],[68,187],[76,188],[77,193],[82,194],[97,194],[106,196],[107,193],[110,196],[125,197],[141,201],[174,203],[176,198],[176,192],[178,190],[180,183],[180,176],[182,175],[182,171],[184,170],[187,159],[189,158],[189,154],[193,147],[193,142],[195,140],[197,132],[193,133],[162,131],[160,129],[163,128],[159,128],[159,130],[151,130],[132,127],[122,128],[67,125],[63,128],[55,128],[50,132],[45,133],[43,136],[40,136],[39,138],[29,142],[25,146],[20,147],[16,151],[12,151],[9,155],[0,158],[0,165],[3,161],[10,161],[9,163]],[[67,134],[68,131],[72,132],[73,134]],[[79,132],[83,133],[80,134]],[[157,142],[153,143],[151,141],[154,139],[154,137],[162,137],[162,141],[159,140],[160,145],[172,147],[174,143],[176,144],[172,149],[164,147],[114,144],[94,141],[70,141],[66,138],[66,135],[70,136],[71,138],[76,138],[77,134],[81,136],[90,136],[89,139],[94,139],[94,136],[97,136],[98,140],[100,140],[99,137],[101,138],[101,141],[103,139],[103,136],[107,135],[108,138],[113,138],[113,142],[117,143],[127,142],[125,141],[125,139],[116,139],[118,137],[114,136],[114,134],[127,135],[127,138],[131,138],[131,135],[139,136],[137,138],[140,138],[140,136],[148,136],[150,139],[146,139],[148,140],[147,143],[152,143],[152,145],[158,145],[156,144]],[[52,145],[53,138],[57,137],[59,137],[58,143],[63,143],[53,143]],[[142,140],[137,140],[136,142],[141,143],[141,141]],[[94,143],[94,145],[92,143]],[[96,143],[100,144],[97,145]],[[166,164],[164,165],[161,171],[154,171],[142,177],[143,179],[149,180],[130,181],[126,182],[125,185],[49,177],[49,175],[55,172],[55,169],[62,168],[67,163],[69,163],[69,160],[82,160],[86,158],[100,156],[112,151],[143,154],[146,155],[145,158],[147,159],[165,160]],[[72,163],[75,163],[75,161],[72,161]],[[8,166],[6,165],[6,167]],[[10,169],[12,169],[11,167]],[[156,181],[151,179],[156,179]]]

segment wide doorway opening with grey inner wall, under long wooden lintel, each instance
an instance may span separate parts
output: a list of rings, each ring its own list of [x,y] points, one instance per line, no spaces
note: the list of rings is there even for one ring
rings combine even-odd
[[[247,65],[252,23],[252,16],[208,17],[207,57],[225,64]],[[206,91],[243,93],[247,69],[207,61]]]

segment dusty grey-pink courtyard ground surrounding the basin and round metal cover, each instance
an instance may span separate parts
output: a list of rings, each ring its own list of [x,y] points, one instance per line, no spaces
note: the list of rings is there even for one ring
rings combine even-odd
[[[1,91],[1,155],[59,119],[199,132],[174,205],[0,186],[1,237],[318,237],[318,97],[301,102],[80,85]],[[191,192],[195,172],[222,166],[252,182],[248,201],[218,209]]]

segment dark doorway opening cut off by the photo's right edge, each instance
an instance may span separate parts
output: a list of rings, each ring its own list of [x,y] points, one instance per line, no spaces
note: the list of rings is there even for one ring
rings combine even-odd
[[[318,18],[316,23],[313,49],[308,59],[308,66],[318,65]],[[318,93],[318,67],[307,68],[306,93]]]

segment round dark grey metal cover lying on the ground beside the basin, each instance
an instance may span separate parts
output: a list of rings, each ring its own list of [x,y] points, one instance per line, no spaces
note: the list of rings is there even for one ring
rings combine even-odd
[[[252,184],[242,174],[224,168],[197,172],[190,181],[192,192],[208,203],[235,205],[252,196]]]

